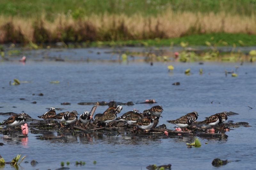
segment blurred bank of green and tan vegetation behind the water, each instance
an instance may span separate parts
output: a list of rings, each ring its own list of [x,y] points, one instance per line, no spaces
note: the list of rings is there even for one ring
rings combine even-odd
[[[1,0],[0,42],[255,45],[255,12],[256,0]]]

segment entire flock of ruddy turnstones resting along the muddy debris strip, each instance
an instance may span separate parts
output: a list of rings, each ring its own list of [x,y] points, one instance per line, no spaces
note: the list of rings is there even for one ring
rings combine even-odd
[[[163,112],[162,106],[153,106],[150,109],[144,110],[143,113],[139,113],[138,110],[134,109],[132,111],[124,113],[120,117],[117,117],[117,114],[119,114],[122,109],[123,109],[122,106],[109,107],[102,114],[96,114],[94,116],[94,120],[92,119],[92,116],[88,111],[84,111],[84,113],[80,115],[79,121],[84,125],[87,125],[91,121],[94,124],[106,123],[108,125],[110,122],[113,122],[113,121],[124,122],[129,125],[137,126],[140,129],[148,131],[151,128],[156,127],[159,121],[159,118],[162,117],[161,114]],[[51,120],[57,120],[58,122],[60,122],[60,125],[62,127],[64,127],[62,125],[63,122],[71,124],[78,120],[77,115],[79,114],[75,110],[72,112],[61,112],[57,115],[54,107],[51,107],[48,110],[49,111],[47,111],[43,115],[37,116],[37,117],[46,120],[46,122]],[[198,123],[214,126],[214,125],[225,122],[228,119],[228,116],[229,116],[228,112],[216,113],[214,115],[206,117],[204,121],[201,121]],[[2,125],[7,125],[10,127],[19,126],[26,122],[27,117],[30,117],[30,116],[27,115],[26,113],[13,115],[9,117]],[[173,123],[176,126],[179,126],[180,128],[182,128],[182,130],[184,130],[183,128],[187,129],[187,127],[191,125],[193,122],[195,122],[197,118],[198,118],[198,113],[195,111],[195,112],[188,113],[184,116],[181,116],[176,120],[170,120],[167,122]]]

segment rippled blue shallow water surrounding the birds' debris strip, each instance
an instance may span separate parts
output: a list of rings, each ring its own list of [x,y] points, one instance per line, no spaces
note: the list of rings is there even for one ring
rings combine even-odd
[[[226,77],[224,70],[235,70],[235,65],[239,63],[204,62],[203,65],[199,65],[197,62],[159,62],[150,66],[145,62],[133,62],[130,58],[129,62],[87,62],[87,56],[96,53],[96,51],[88,53],[88,50],[93,51],[94,48],[72,50],[81,53],[81,56],[86,55],[79,61],[70,57],[68,62],[34,61],[32,57],[28,58],[26,64],[15,61],[1,62],[0,112],[24,111],[37,118],[37,115],[46,112],[47,107],[60,107],[67,111],[77,110],[80,114],[84,110],[91,110],[92,105],[77,105],[78,102],[115,100],[136,103],[155,99],[157,104],[164,108],[163,118],[160,119],[159,124],[165,123],[168,129],[173,129],[174,125],[165,122],[166,120],[179,118],[191,111],[198,112],[199,121],[214,113],[233,111],[239,115],[232,115],[228,120],[249,122],[252,127],[241,126],[230,130],[226,132],[228,137],[199,137],[202,143],[199,148],[186,146],[187,142],[194,141],[194,137],[151,138],[117,135],[115,132],[108,134],[93,132],[63,134],[66,138],[40,140],[36,139],[36,136],[41,134],[29,132],[27,141],[20,138],[7,141],[0,134],[0,142],[5,144],[0,146],[0,155],[6,161],[10,161],[17,154],[22,154],[27,155],[24,161],[30,162],[35,159],[38,162],[36,166],[31,166],[30,163],[23,161],[21,167],[24,169],[56,169],[60,167],[61,161],[71,162],[72,164],[68,166],[71,169],[146,169],[149,164],[169,163],[172,164],[172,169],[216,169],[211,162],[214,158],[220,158],[233,161],[222,166],[221,169],[254,169],[255,63],[244,63],[240,66],[236,70],[238,77],[231,77],[231,74]],[[34,54],[33,51],[25,51],[25,53]],[[58,56],[57,50],[54,55]],[[39,51],[38,57],[43,57]],[[111,53],[101,52],[97,57],[111,60]],[[167,70],[170,64],[175,68],[172,72]],[[188,68],[191,69],[191,74],[185,75],[184,70]],[[202,75],[199,74],[200,68],[204,71]],[[14,78],[32,83],[9,85],[9,81],[13,81]],[[57,80],[60,81],[59,84],[49,83]],[[177,81],[180,85],[172,85]],[[44,96],[38,96],[40,92]],[[32,95],[33,93],[36,95]],[[37,103],[32,104],[32,101]],[[70,102],[71,105],[60,105],[62,102]],[[151,106],[153,105],[123,106],[121,114],[133,108],[143,111]],[[107,107],[98,106],[96,113],[103,112]],[[8,117],[1,115],[0,122]],[[56,131],[43,134],[43,136],[58,135],[61,134]],[[208,144],[204,144],[205,142]],[[86,165],[75,166],[75,161],[80,160],[85,161]],[[93,160],[97,161],[96,165],[92,163]],[[9,165],[5,167],[10,168]]]

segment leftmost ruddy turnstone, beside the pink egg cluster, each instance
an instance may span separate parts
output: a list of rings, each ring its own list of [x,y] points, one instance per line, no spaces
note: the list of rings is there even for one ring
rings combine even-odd
[[[10,127],[15,127],[15,126],[19,126],[23,123],[26,122],[27,117],[30,117],[29,115],[27,115],[26,113],[21,113],[19,115],[13,115],[11,117],[9,117],[2,125],[6,125],[6,126],[10,126]]]

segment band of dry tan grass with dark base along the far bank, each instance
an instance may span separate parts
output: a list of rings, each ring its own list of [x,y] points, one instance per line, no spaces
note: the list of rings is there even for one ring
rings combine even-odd
[[[111,41],[172,38],[194,33],[256,33],[256,17],[226,13],[166,12],[156,17],[135,14],[91,15],[74,20],[64,14],[42,18],[0,16],[0,42]]]

